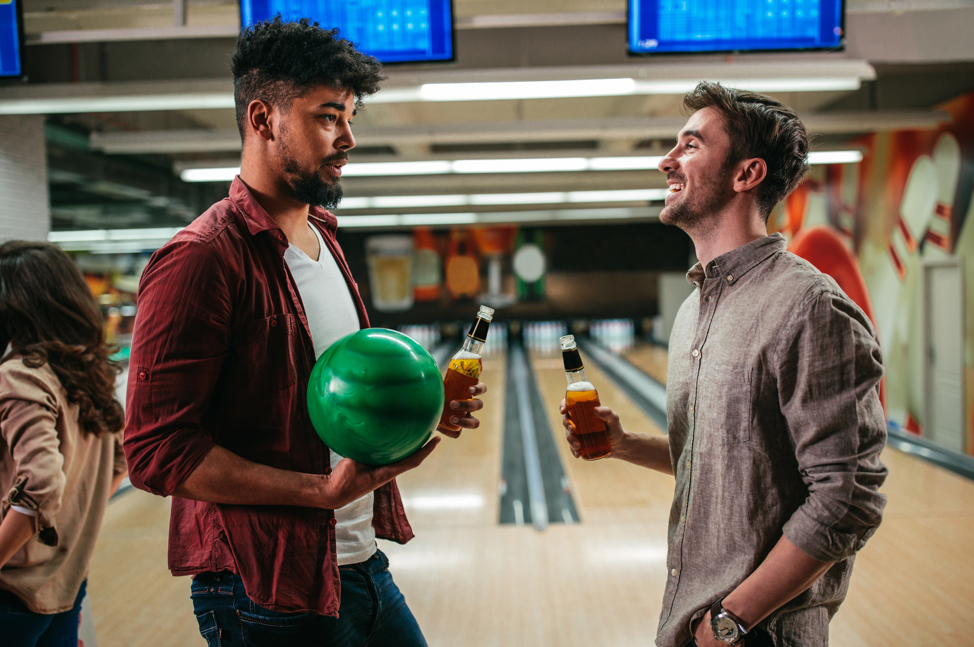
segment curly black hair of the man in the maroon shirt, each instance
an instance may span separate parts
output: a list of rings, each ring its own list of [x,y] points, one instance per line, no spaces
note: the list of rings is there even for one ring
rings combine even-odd
[[[351,90],[356,107],[379,91],[385,80],[382,63],[340,38],[337,29],[322,29],[307,18],[273,20],[247,27],[230,57],[237,128],[243,139],[247,106],[261,99],[287,110],[295,97],[314,86]]]

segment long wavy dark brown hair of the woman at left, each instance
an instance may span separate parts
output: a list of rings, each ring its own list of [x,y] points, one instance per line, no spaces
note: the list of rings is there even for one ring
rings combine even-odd
[[[104,319],[88,284],[67,254],[49,243],[0,245],[0,343],[9,341],[24,364],[45,363],[77,403],[87,433],[116,432],[125,424],[115,399],[121,367],[108,359]]]

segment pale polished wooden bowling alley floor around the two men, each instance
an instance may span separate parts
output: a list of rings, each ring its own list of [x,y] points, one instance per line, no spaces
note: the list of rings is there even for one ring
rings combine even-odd
[[[665,379],[665,351],[627,353]],[[662,359],[661,359],[662,358]],[[624,424],[659,429],[586,362]],[[649,365],[652,364],[653,367]],[[666,582],[673,480],[614,460],[585,463],[561,442],[559,357],[532,369],[571,482],[580,523],[499,525],[505,366],[484,362],[481,428],[444,439],[400,478],[416,538],[381,542],[431,647],[652,645]],[[882,527],[857,557],[833,647],[970,644],[974,482],[888,448]],[[99,647],[203,645],[188,578],[166,569],[169,501],[130,490],[109,506],[88,591]]]

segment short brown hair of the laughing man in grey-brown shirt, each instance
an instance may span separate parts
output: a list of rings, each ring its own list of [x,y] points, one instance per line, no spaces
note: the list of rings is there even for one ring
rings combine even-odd
[[[725,168],[755,157],[767,164],[768,174],[758,185],[758,205],[767,221],[808,171],[808,133],[798,115],[769,96],[709,82],[687,92],[683,107],[690,114],[716,108],[723,115],[731,141]]]

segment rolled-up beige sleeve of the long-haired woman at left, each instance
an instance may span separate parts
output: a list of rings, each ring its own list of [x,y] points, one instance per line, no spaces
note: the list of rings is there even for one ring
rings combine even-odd
[[[64,494],[64,456],[57,434],[58,401],[53,385],[14,362],[0,371],[0,433],[16,465],[4,493],[11,506],[34,512],[34,533],[49,546],[58,543],[54,520]]]

